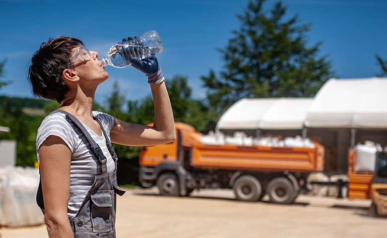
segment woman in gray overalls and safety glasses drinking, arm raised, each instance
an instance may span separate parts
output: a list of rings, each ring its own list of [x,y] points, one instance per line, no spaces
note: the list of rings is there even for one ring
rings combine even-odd
[[[125,38],[124,38],[125,39]],[[111,143],[162,144],[176,139],[175,124],[156,57],[130,59],[145,73],[154,101],[154,125],[132,124],[92,112],[97,86],[109,74],[75,38],[57,37],[34,54],[29,81],[35,96],[62,103],[41,123],[36,149],[42,199],[50,238],[115,237],[117,158]],[[96,153],[94,147],[102,153]],[[44,201],[44,204],[43,204]]]

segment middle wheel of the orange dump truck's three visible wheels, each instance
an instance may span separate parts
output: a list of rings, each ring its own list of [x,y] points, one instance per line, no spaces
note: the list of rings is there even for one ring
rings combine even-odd
[[[233,186],[235,196],[240,201],[257,201],[261,195],[262,187],[258,179],[250,175],[239,177]]]

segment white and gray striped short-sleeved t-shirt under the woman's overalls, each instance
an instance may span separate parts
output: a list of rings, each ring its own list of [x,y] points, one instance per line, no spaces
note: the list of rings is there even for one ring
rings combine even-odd
[[[108,114],[96,111],[93,111],[93,116],[101,122],[110,140],[110,131],[114,126],[114,118]],[[104,134],[102,133],[102,136],[98,136],[85,124],[83,126],[102,149],[102,152],[107,158],[108,173],[113,174],[115,171],[115,163],[106,146]],[[89,142],[83,133],[78,128],[72,126],[65,119],[65,114],[61,112],[47,116],[38,128],[36,136],[38,161],[39,147],[50,135],[55,135],[63,139],[71,150],[70,194],[67,215],[75,217],[94,182],[94,177],[102,173],[101,165],[98,163],[98,159],[90,152]]]

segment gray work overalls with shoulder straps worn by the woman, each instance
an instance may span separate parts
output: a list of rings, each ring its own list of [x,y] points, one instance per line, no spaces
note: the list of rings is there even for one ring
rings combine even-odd
[[[122,196],[125,191],[117,184],[117,155],[114,152],[112,144],[103,129],[103,126],[98,119],[94,118],[100,124],[101,130],[105,136],[106,144],[112,158],[115,161],[115,172],[108,174],[106,162],[107,159],[103,155],[98,144],[93,140],[82,123],[71,114],[56,110],[55,112],[66,114],[66,119],[75,127],[80,129],[90,143],[90,151],[98,159],[101,164],[101,175],[97,175],[94,183],[83,200],[77,214],[74,218],[69,217],[72,232],[75,238],[115,238],[115,221],[116,221],[116,193]],[[43,195],[41,192],[41,184],[39,184],[37,193],[38,205],[44,209]]]

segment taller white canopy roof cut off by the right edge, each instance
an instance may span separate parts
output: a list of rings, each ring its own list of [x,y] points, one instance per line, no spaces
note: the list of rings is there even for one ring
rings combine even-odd
[[[387,128],[387,78],[329,79],[317,93],[305,126]]]

